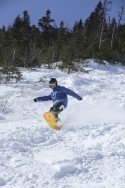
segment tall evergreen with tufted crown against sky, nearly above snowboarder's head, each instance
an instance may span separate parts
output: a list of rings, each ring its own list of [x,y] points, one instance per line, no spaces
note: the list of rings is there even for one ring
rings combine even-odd
[[[42,30],[41,45],[42,45],[42,63],[47,63],[50,68],[51,63],[56,60],[56,42],[57,42],[57,28],[54,27],[54,19],[51,18],[50,10],[46,11],[38,25]]]

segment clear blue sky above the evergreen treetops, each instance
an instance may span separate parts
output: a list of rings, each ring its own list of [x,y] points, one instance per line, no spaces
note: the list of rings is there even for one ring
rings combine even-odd
[[[84,21],[98,2],[99,0],[0,0],[0,27],[12,25],[18,15],[22,17],[25,9],[30,15],[31,24],[37,25],[49,9],[57,25],[63,20],[67,26],[72,27],[76,21]],[[115,13],[115,9],[112,10],[112,14]]]

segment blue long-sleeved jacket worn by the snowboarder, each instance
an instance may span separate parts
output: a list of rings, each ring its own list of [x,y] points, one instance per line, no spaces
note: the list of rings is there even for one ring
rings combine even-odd
[[[80,97],[77,93],[74,91],[63,87],[63,86],[57,86],[53,89],[50,95],[48,96],[43,96],[43,97],[38,97],[35,98],[34,101],[49,101],[52,100],[54,104],[58,102],[62,102],[63,105],[66,107],[68,104],[68,97],[67,95],[70,95],[78,100],[82,100],[82,97]]]

